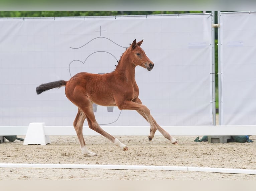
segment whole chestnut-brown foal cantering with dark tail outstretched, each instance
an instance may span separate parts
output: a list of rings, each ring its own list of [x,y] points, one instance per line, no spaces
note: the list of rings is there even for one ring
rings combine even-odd
[[[140,47],[142,42],[143,40],[136,42],[135,39],[130,44],[130,47],[120,57],[113,72],[106,74],[81,72],[69,81],[59,80],[36,87],[38,95],[53,88],[66,86],[65,94],[67,98],[78,107],[73,126],[79,139],[82,154],[85,156],[96,155],[96,153],[89,151],[85,144],[83,137],[85,119],[87,119],[89,128],[108,138],[123,150],[128,149],[126,145],[100,127],[95,119],[93,103],[103,106],[117,106],[120,110],[136,110],[150,124],[149,141],[153,139],[155,131],[159,130],[172,144],[178,144],[174,137],[157,124],[151,116],[150,110],[139,99],[139,88],[135,81],[135,67],[141,66],[148,71],[151,71],[154,67],[153,62],[148,59]]]

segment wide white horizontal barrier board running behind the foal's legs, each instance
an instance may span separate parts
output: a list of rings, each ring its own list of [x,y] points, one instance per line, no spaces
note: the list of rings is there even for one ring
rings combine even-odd
[[[31,123],[30,123],[31,124]],[[44,126],[44,125],[43,125]],[[256,125],[202,125],[202,126],[162,126],[171,135],[256,135]],[[116,135],[145,135],[149,126],[102,126],[108,133]],[[0,136],[26,135],[28,126],[0,126]],[[77,135],[73,126],[44,126],[45,135]],[[100,135],[88,126],[83,127],[83,134]],[[161,135],[156,131],[155,135]]]

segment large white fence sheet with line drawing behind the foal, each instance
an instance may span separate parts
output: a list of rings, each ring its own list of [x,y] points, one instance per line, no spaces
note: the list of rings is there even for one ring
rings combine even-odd
[[[137,67],[136,81],[156,121],[213,124],[209,15],[0,19],[0,28],[0,125],[72,125],[77,107],[65,88],[41,95],[35,88],[78,72],[111,72],[134,39],[144,39],[155,64],[151,72]],[[136,111],[109,109],[97,106],[100,124],[148,125]]]

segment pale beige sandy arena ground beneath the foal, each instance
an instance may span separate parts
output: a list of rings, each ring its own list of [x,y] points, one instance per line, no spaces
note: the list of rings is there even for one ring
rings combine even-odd
[[[108,139],[85,136],[89,150],[97,156],[85,157],[76,136],[50,136],[46,146],[27,145],[15,140],[0,144],[0,163],[57,163],[161,165],[256,169],[256,136],[253,143],[194,142],[195,136],[176,136],[172,145],[163,136],[149,142],[147,136],[117,136],[126,144],[122,151]],[[200,137],[201,138],[201,137]],[[190,171],[36,169],[2,168],[0,180],[255,180],[256,175]]]

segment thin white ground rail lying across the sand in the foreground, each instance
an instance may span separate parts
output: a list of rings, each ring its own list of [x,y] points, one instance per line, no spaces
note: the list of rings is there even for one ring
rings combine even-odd
[[[0,163],[0,168],[66,168],[66,169],[110,169],[110,170],[166,170],[166,171],[197,171],[217,172],[229,174],[256,174],[256,170],[211,168],[211,167],[186,167],[186,166],[144,166],[144,165],[101,165],[101,164],[19,164]]]

